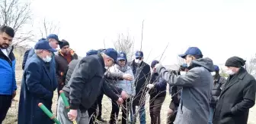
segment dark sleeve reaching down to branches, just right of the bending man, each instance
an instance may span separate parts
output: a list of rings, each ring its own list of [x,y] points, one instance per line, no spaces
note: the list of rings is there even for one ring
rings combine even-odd
[[[118,100],[118,96],[114,93],[114,90],[110,88],[110,85],[107,82],[103,82],[102,91],[108,98],[111,98],[114,101]]]

